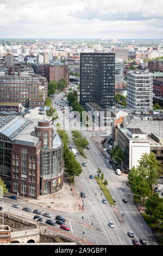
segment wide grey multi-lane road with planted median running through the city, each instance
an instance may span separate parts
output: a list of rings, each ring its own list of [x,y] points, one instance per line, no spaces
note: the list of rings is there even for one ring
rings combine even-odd
[[[73,85],[74,86],[74,85]],[[64,93],[58,94],[53,99],[53,107],[60,111],[59,105],[61,97]],[[57,102],[57,103],[55,103]],[[66,126],[68,136],[70,138],[70,144],[73,148],[76,148],[72,141],[71,130],[74,130],[75,127],[80,127],[79,119],[74,119],[73,113],[71,114],[70,109],[65,104],[65,114],[66,119],[68,119],[69,124]],[[70,114],[70,118],[68,117]],[[86,194],[86,198],[83,199],[85,206],[85,214],[82,219],[82,214],[79,218],[78,223],[82,224],[84,222],[85,232],[83,234],[83,229],[78,228],[78,236],[81,236],[81,231],[83,236],[89,241],[96,243],[98,245],[131,245],[131,238],[127,235],[128,231],[134,232],[134,239],[140,240],[141,238],[147,241],[149,245],[157,245],[158,243],[154,239],[151,229],[149,229],[146,222],[143,220],[140,212],[137,210],[136,206],[133,203],[130,188],[127,186],[127,176],[118,176],[115,171],[112,169],[109,161],[99,153],[99,150],[96,148],[96,145],[91,139],[92,132],[81,130],[83,136],[87,138],[90,143],[90,149],[85,150],[87,159],[79,154],[77,150],[77,161],[83,163],[86,161],[87,166],[83,167],[83,172],[79,177],[75,178],[75,188],[80,192]],[[108,189],[111,193],[111,196],[116,200],[116,207],[124,216],[125,224],[121,224],[112,209],[113,206],[110,206],[109,203],[103,204],[102,199],[104,195],[101,194],[101,190],[97,185],[95,179],[89,179],[89,175],[96,175],[97,168],[100,168],[104,173],[104,179],[108,181]],[[130,196],[128,196],[130,194]],[[122,199],[127,198],[128,203],[123,203]],[[77,216],[77,215],[76,215]],[[113,221],[115,228],[110,228],[108,223]],[[93,228],[90,228],[90,223],[93,222]],[[94,228],[95,226],[95,228]],[[74,231],[75,232],[75,231]],[[153,238],[149,238],[151,235]]]

